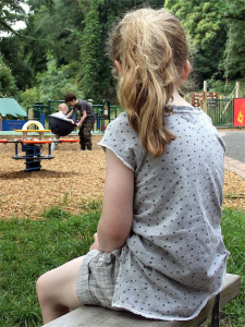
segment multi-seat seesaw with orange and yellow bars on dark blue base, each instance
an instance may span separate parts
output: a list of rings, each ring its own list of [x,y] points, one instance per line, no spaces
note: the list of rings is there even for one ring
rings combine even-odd
[[[30,125],[37,125],[39,130],[27,130],[27,128]],[[12,156],[13,159],[20,160],[25,159],[25,170],[24,171],[39,171],[41,169],[40,161],[44,159],[53,159],[54,157],[51,155],[51,144],[52,140],[45,140],[45,132],[50,132],[50,130],[45,130],[42,124],[38,121],[30,120],[26,122],[22,130],[15,130],[15,132],[21,132],[23,134],[23,138],[15,138],[14,141],[9,140],[0,140],[0,143],[7,144],[7,143],[14,143],[15,144],[15,154]],[[30,132],[38,133],[39,138],[29,138],[27,137],[27,134]],[[70,132],[71,133],[71,132]],[[68,135],[68,134],[65,134]],[[63,135],[63,136],[65,136]],[[59,140],[56,141],[56,143],[74,143],[78,142],[78,140]],[[22,146],[22,152],[25,153],[24,156],[19,155],[19,144]],[[48,155],[41,155],[41,147],[44,144],[48,144]]]

